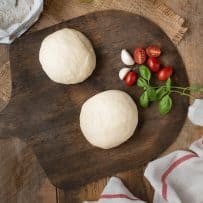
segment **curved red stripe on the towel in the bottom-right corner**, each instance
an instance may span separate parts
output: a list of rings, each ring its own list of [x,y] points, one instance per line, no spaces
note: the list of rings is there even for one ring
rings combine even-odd
[[[183,162],[193,158],[193,157],[197,157],[196,154],[188,154],[185,155],[179,159],[177,159],[175,162],[173,162],[169,168],[165,171],[165,173],[161,176],[161,182],[162,182],[162,197],[163,199],[167,200],[167,184],[166,184],[166,178],[167,176],[180,164],[182,164]]]

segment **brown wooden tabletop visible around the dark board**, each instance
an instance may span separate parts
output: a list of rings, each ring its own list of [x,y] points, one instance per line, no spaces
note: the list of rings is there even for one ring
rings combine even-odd
[[[186,19],[189,30],[178,45],[178,50],[186,65],[190,83],[203,86],[203,1],[162,1]],[[8,60],[8,48],[2,45],[0,46],[0,66],[6,60]],[[0,89],[1,85],[0,82]],[[3,93],[0,92],[0,94]],[[187,149],[202,135],[203,128],[194,126],[187,120],[175,143],[164,154],[176,149]],[[61,191],[50,183],[31,148],[18,138],[0,139],[0,160],[1,203],[76,203],[85,199],[95,200],[108,180],[104,178],[79,191]],[[143,171],[144,168],[139,168],[115,175],[121,177],[135,195],[139,194],[140,198],[151,202],[153,190],[144,179]]]

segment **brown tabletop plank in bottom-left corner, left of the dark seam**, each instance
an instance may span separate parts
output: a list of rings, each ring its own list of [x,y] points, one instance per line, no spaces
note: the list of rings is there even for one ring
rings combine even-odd
[[[0,146],[0,202],[56,203],[56,189],[31,148],[18,138],[1,139]]]

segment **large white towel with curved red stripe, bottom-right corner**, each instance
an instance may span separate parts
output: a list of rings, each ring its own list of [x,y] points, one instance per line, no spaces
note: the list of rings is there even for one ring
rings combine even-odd
[[[155,190],[153,203],[203,203],[203,138],[189,149],[148,164],[144,175]]]

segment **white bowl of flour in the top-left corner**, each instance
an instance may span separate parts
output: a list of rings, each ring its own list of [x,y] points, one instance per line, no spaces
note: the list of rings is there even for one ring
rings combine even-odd
[[[33,5],[27,4],[31,2],[32,1],[22,0],[0,0],[0,44],[12,43],[39,19],[43,11],[44,1],[34,0]],[[30,11],[23,17],[22,13],[26,8],[29,8]],[[4,24],[8,23],[10,25],[10,22],[12,22],[12,24],[9,27],[2,28],[1,21],[3,21]]]

